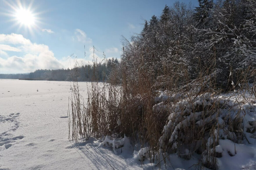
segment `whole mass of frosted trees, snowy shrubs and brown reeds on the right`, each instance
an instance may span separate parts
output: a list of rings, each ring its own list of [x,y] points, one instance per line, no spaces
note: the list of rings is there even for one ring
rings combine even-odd
[[[218,169],[223,140],[236,146],[256,138],[255,15],[255,0],[165,6],[131,42],[124,38],[120,67],[108,83],[90,84],[87,103],[74,82],[70,139],[103,135],[102,145],[115,150],[129,136],[142,164],[149,158],[167,169],[169,154],[196,153],[195,169]]]

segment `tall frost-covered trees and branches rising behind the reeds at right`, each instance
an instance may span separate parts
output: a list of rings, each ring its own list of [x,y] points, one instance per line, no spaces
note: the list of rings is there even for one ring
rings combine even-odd
[[[215,75],[216,87],[230,90],[237,75],[256,66],[255,15],[255,0],[199,0],[195,9],[179,2],[165,6],[160,18],[145,21],[141,34],[124,39],[127,78],[138,80],[143,70],[168,88],[163,82],[182,86],[208,73]]]

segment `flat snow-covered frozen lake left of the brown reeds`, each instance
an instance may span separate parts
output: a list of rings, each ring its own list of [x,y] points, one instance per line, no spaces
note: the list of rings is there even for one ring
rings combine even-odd
[[[85,97],[86,82],[79,85]],[[68,140],[70,91],[70,82],[0,80],[0,169],[141,168],[93,139]]]

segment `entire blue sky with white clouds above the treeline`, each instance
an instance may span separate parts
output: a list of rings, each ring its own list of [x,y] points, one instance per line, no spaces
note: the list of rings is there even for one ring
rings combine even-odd
[[[140,33],[144,20],[159,17],[173,0],[102,1],[4,1],[0,0],[0,73],[25,73],[36,69],[72,67],[68,56],[79,62],[120,57],[121,35]],[[197,6],[197,0],[180,1]],[[34,24],[21,23],[20,9],[33,15]],[[21,17],[20,17],[21,16]],[[25,19],[26,20],[26,19]],[[84,59],[84,45],[86,59]]]

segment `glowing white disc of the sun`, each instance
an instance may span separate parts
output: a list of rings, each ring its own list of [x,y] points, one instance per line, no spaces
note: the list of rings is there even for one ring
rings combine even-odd
[[[24,9],[24,8],[17,9],[15,13],[15,18],[21,25],[24,25],[27,27],[31,27],[35,25],[35,16],[28,9]]]

